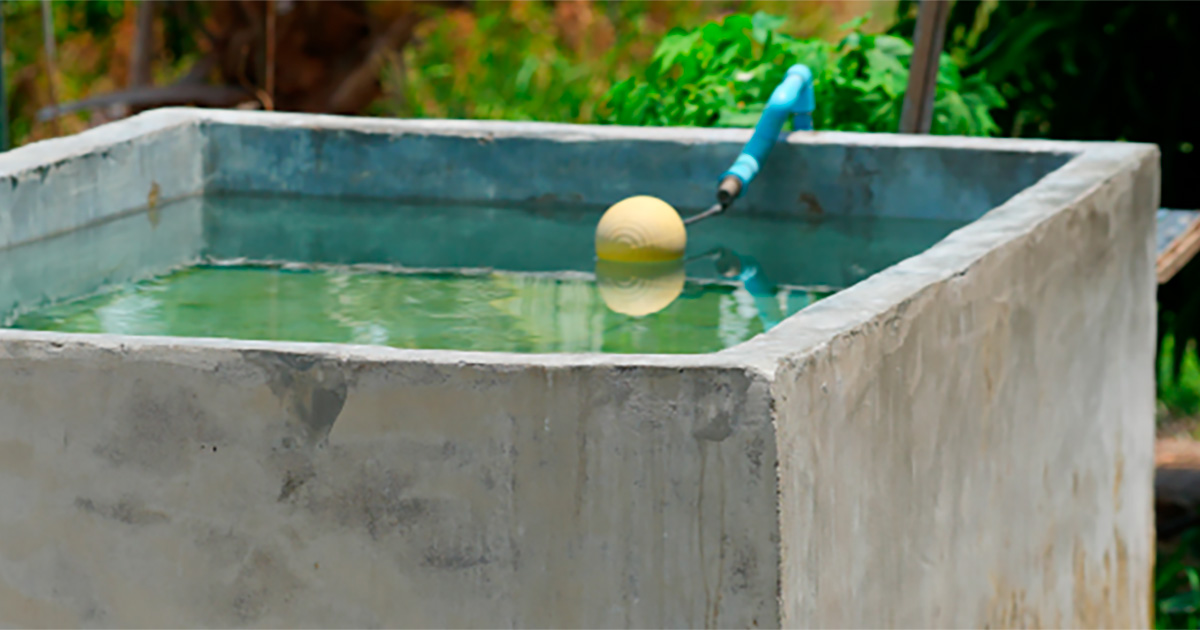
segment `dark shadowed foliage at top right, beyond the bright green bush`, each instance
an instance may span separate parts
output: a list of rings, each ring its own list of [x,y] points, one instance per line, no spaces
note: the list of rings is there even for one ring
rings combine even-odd
[[[889,32],[910,36],[914,8],[900,0]],[[1156,143],[1163,205],[1195,209],[1198,30],[1195,2],[956,0],[946,47],[1009,102],[996,115],[1003,134]]]

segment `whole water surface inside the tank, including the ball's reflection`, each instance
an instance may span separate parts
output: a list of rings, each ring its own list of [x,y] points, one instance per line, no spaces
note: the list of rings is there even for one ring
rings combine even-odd
[[[0,250],[0,322],[403,348],[707,353],[958,227],[728,214],[689,229],[685,260],[628,266],[596,264],[601,211],[270,197],[167,204],[158,221],[127,215]]]

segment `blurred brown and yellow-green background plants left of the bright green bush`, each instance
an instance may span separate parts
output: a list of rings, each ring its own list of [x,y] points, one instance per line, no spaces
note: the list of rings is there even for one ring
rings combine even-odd
[[[270,100],[276,108],[306,112],[593,122],[613,77],[644,65],[671,26],[692,28],[734,7],[769,7],[791,18],[793,35],[828,36],[846,16],[894,1],[280,0],[276,94]],[[194,104],[211,107],[263,101],[268,64],[265,5],[259,0],[156,2],[152,90],[138,91],[137,102],[125,108],[109,103],[131,91],[138,2],[55,0],[53,7],[59,42],[53,80],[59,100],[68,104],[59,120],[62,133],[146,107],[186,104],[196,95],[203,98]],[[49,78],[40,58],[41,7],[10,1],[0,2],[0,10],[8,18],[5,62],[13,142],[19,145],[54,132],[37,118],[49,104]],[[403,13],[421,18],[410,42],[406,29],[388,28]],[[868,29],[881,30],[886,22],[877,18]],[[386,62],[379,64],[376,52]],[[205,91],[212,86],[221,90]]]

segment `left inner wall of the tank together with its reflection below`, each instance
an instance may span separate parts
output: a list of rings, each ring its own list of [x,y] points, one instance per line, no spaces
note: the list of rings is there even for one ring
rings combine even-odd
[[[0,154],[0,325],[194,259],[204,143],[197,120],[152,112]]]

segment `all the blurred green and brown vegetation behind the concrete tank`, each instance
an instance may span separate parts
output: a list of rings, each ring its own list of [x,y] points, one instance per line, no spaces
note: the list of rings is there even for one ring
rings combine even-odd
[[[911,0],[328,5],[348,7],[338,23],[344,24],[343,43],[391,30],[379,24],[409,20],[395,46],[382,48],[382,60],[352,55],[353,67],[366,68],[372,84],[349,113],[749,126],[786,67],[804,62],[816,72],[817,128],[878,132],[896,128],[916,10]],[[234,6],[242,5],[160,5],[154,83],[197,74],[247,88],[239,106],[266,107],[262,14],[254,13],[260,8],[230,13]],[[128,113],[92,108],[37,119],[52,94],[70,102],[130,85],[133,2],[54,2],[53,74],[47,72],[41,5],[2,1],[0,11],[7,40],[4,88],[16,144]],[[1194,185],[1200,115],[1193,112],[1200,103],[1198,32],[1200,2],[958,0],[947,29],[934,132],[1154,143],[1163,152],[1163,205],[1200,209]],[[347,46],[338,50],[350,50]],[[281,61],[281,82],[293,80],[301,90],[305,80],[318,80],[325,83],[346,78],[337,68],[347,64],[322,66],[312,55],[298,56],[308,48],[298,50]],[[216,59],[211,67],[199,64],[208,58]],[[289,103],[283,96],[278,104],[346,110],[323,102]],[[1192,433],[1196,425],[1188,419],[1200,413],[1198,275],[1194,263],[1159,293],[1160,407],[1165,419],[1184,420],[1177,426]],[[1198,541],[1200,534],[1192,533],[1162,548],[1156,584],[1160,628],[1200,625]]]

